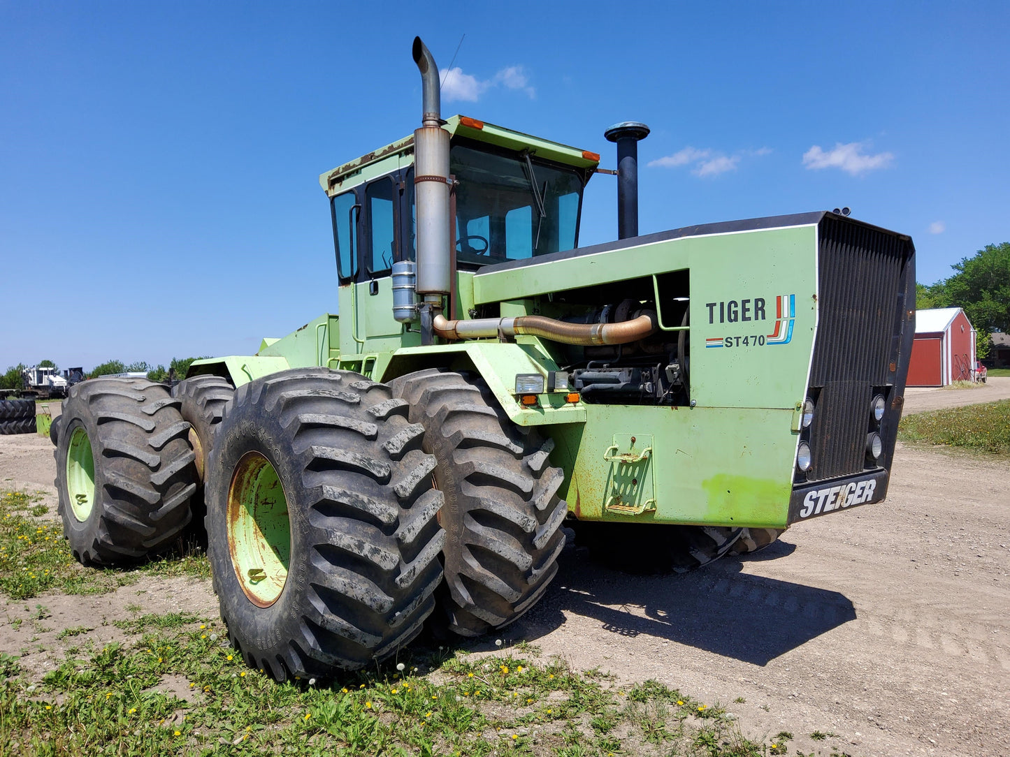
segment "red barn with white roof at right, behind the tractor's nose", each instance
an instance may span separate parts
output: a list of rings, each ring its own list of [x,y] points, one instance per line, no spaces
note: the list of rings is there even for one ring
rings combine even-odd
[[[975,329],[961,308],[915,313],[909,387],[945,387],[970,382],[975,367]]]

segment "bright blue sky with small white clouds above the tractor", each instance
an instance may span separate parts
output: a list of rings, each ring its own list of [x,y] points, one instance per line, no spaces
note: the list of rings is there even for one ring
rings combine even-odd
[[[414,34],[443,69],[466,34],[446,114],[607,168],[604,128],[647,123],[643,233],[847,205],[923,283],[1010,240],[1007,4],[634,5],[0,0],[0,369],[250,353],[334,312],[318,175],[417,125]]]

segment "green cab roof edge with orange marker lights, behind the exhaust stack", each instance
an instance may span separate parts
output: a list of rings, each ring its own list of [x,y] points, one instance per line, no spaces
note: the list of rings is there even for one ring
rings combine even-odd
[[[583,171],[592,171],[600,163],[600,156],[595,152],[541,139],[531,134],[523,134],[520,131],[513,131],[504,126],[497,126],[469,116],[454,115],[445,121],[442,128],[453,137],[463,136],[507,149],[528,149],[532,154],[543,159]],[[413,164],[413,153],[414,135],[411,134],[321,174],[319,186],[332,197],[370,179],[388,174],[397,168],[406,168]]]

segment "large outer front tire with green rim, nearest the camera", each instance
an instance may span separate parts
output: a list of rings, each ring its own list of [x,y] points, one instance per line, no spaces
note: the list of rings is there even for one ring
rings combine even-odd
[[[210,450],[207,536],[232,643],[277,680],[381,660],[441,581],[424,429],[389,388],[297,368],[239,387]]]

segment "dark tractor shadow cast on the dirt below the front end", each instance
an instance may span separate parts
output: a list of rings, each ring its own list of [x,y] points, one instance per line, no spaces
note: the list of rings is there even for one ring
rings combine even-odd
[[[743,560],[768,560],[796,547],[779,541]],[[648,635],[766,665],[786,652],[855,620],[844,594],[741,572],[724,557],[672,575],[629,575],[603,567],[571,545],[541,603],[515,623],[517,636],[544,636],[565,614],[593,619],[617,636]]]

